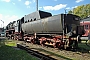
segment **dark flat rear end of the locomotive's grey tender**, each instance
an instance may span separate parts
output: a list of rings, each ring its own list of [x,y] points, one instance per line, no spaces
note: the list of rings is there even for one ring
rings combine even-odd
[[[64,32],[65,34],[72,33],[74,35],[82,35],[84,33],[83,26],[80,26],[80,17],[72,14],[64,16]],[[79,30],[79,31],[78,31]]]

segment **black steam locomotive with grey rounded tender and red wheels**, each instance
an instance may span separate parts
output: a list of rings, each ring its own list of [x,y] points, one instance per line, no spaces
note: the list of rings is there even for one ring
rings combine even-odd
[[[73,14],[52,16],[49,12],[36,11],[7,25],[6,36],[33,44],[54,48],[77,47],[84,34],[80,17]]]

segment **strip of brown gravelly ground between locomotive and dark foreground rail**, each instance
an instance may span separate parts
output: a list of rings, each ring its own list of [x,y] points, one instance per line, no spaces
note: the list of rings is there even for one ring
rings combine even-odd
[[[77,51],[59,50],[59,49],[54,49],[51,47],[46,47],[46,46],[44,47],[44,46],[37,45],[37,44],[25,43],[23,41],[17,41],[17,44],[25,48],[31,49],[33,51],[37,51],[51,58],[54,58],[55,60],[90,60],[89,51],[80,52],[79,50]]]

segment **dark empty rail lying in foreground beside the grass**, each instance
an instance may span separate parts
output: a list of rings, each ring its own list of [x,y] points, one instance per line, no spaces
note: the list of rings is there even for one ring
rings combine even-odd
[[[48,55],[44,55],[42,53],[39,53],[38,51],[32,50],[25,45],[17,44],[17,47],[20,49],[26,50],[28,53],[40,58],[41,60],[57,60],[55,58],[49,57]]]

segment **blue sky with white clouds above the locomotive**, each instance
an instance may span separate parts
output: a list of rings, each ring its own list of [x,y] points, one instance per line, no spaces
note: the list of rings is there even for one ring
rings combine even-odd
[[[38,0],[38,9],[57,15],[68,12],[90,0]],[[36,0],[0,0],[0,27],[36,11]]]

